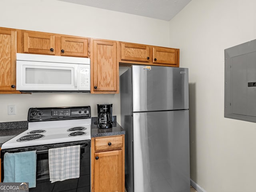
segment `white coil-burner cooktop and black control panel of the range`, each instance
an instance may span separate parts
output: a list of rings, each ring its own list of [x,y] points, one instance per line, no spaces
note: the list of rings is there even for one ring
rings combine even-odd
[[[1,149],[91,140],[90,106],[30,108],[28,130],[2,144]]]

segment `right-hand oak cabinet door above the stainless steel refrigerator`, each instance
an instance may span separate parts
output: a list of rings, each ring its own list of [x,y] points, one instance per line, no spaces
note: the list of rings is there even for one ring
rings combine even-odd
[[[153,47],[153,63],[177,64],[178,50],[172,48]]]

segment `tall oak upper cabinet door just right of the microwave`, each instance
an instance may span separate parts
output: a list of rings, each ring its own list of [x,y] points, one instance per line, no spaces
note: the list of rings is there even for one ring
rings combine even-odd
[[[91,93],[118,93],[117,42],[92,40]]]

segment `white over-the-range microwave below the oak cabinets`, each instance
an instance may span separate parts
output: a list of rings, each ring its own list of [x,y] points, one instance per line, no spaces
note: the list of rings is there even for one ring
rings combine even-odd
[[[16,90],[90,92],[90,58],[16,55]]]

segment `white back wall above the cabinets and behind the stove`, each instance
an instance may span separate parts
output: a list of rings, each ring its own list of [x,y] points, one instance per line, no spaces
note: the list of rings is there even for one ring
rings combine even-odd
[[[169,45],[169,22],[57,0],[1,0],[0,27]],[[90,105],[97,116],[96,104],[103,102],[113,104],[120,122],[120,94],[0,94],[0,122],[24,121],[30,107]],[[10,104],[16,115],[7,115]]]

